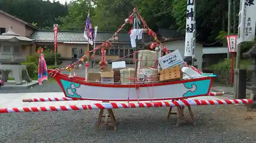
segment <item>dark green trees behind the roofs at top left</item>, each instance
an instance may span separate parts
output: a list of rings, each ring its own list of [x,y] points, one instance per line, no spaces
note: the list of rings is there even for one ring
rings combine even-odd
[[[68,14],[68,5],[49,0],[1,0],[0,9],[26,22],[37,23],[41,28],[60,24],[57,17]]]

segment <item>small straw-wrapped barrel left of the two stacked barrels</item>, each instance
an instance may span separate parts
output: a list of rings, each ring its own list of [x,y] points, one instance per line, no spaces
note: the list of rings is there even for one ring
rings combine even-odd
[[[134,68],[124,68],[120,70],[120,80],[122,83],[135,82],[135,69]]]

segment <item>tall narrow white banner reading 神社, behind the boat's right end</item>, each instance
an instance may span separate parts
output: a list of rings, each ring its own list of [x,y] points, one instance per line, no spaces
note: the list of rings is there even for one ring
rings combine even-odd
[[[195,38],[196,38],[195,36],[195,32],[196,32],[195,2],[196,0],[187,0],[184,56],[194,56]]]

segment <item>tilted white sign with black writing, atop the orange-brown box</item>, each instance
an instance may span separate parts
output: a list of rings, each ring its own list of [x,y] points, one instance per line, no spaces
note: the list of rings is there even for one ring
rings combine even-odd
[[[182,64],[183,58],[180,54],[179,50],[175,50],[171,53],[168,53],[160,58],[158,58],[158,62],[160,64],[160,66],[162,67],[162,69],[166,69],[169,67],[174,67],[176,65],[180,65]]]

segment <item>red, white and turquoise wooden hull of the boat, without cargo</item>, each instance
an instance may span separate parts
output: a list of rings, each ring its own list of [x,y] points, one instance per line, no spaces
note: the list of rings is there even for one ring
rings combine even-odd
[[[81,77],[69,77],[66,74],[48,70],[55,74],[66,97],[100,101],[151,101],[184,99],[207,96],[214,77],[201,76],[176,81],[150,83],[113,83],[87,82]]]

